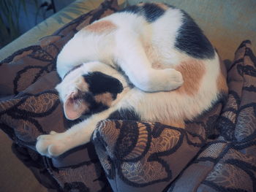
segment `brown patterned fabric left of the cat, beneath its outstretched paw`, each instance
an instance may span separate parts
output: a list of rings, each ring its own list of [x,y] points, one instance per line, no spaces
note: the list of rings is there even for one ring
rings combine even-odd
[[[53,159],[38,155],[35,143],[40,134],[50,130],[62,132],[73,123],[64,118],[54,89],[60,81],[56,56],[61,47],[80,28],[117,9],[116,0],[106,0],[99,8],[40,39],[37,45],[18,50],[0,63],[0,127],[15,141],[13,150],[18,158],[45,187],[108,191],[108,182],[91,143]]]

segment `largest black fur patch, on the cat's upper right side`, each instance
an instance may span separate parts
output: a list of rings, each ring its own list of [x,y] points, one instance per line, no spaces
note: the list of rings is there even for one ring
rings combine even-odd
[[[184,20],[178,30],[175,47],[194,58],[214,58],[214,47],[195,21],[183,12]]]

